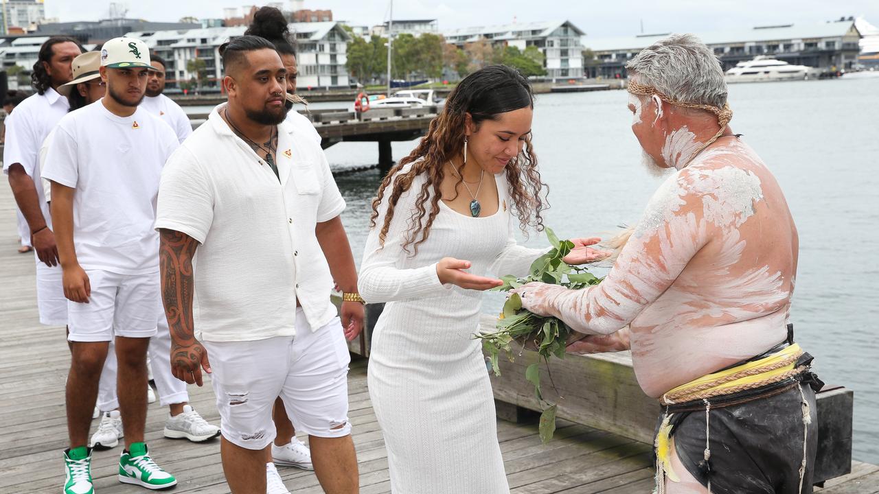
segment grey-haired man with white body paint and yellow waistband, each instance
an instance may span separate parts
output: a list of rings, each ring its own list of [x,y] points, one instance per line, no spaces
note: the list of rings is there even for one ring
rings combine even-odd
[[[569,352],[631,349],[638,382],[663,404],[657,492],[811,492],[820,381],[788,330],[788,204],[727,126],[723,71],[700,40],[659,40],[627,69],[645,161],[676,171],[600,285],[516,292],[583,333]]]

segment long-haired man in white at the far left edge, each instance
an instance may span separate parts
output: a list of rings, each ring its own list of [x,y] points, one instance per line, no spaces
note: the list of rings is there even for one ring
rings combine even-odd
[[[36,253],[40,323],[50,326],[67,324],[67,300],[62,290],[52,218],[43,197],[38,154],[46,136],[68,112],[67,98],[57,90],[73,79],[71,63],[82,51],[72,38],[53,36],[46,40],[33,64],[33,86],[37,93],[16,107],[14,119],[6,120],[3,171],[9,176]]]

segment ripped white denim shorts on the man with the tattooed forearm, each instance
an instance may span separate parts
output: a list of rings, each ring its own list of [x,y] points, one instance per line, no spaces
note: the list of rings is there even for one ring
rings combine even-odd
[[[214,371],[222,435],[229,442],[247,449],[267,447],[275,438],[272,404],[278,396],[296,431],[319,438],[351,433],[351,354],[338,317],[312,332],[298,309],[295,337],[202,343]]]

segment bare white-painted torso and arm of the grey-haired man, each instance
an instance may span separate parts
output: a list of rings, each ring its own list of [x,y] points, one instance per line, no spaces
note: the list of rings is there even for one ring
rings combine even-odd
[[[638,381],[660,396],[785,338],[797,249],[779,185],[732,142],[668,178],[607,279],[556,307],[587,333],[629,324]]]

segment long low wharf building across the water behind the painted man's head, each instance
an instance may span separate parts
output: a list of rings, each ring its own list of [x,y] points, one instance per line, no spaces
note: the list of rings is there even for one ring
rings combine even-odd
[[[625,65],[629,59],[669,34],[596,40],[585,38],[583,44],[594,55],[594,59],[584,61],[587,75],[625,77]],[[858,42],[861,40],[854,18],[815,25],[762,25],[751,29],[695,34],[714,49],[723,64],[723,70],[735,67],[738,62],[752,60],[757,55],[768,55],[792,65],[819,69],[852,69],[858,60]]]

